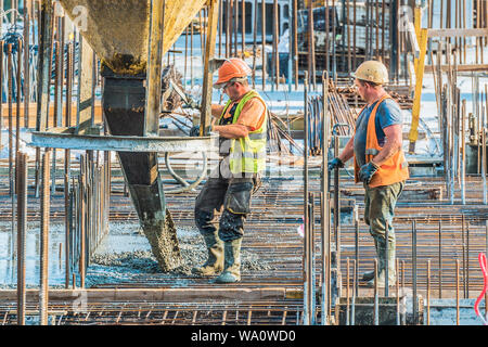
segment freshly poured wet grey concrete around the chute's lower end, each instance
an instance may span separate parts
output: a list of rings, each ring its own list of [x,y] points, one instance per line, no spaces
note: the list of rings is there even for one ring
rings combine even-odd
[[[64,224],[51,223],[49,235],[49,285],[53,288],[64,287]],[[207,259],[204,240],[194,227],[176,229],[180,243],[181,261],[175,269],[163,272],[157,259],[151,252],[151,245],[139,227],[138,221],[111,222],[110,233],[103,240],[88,267],[87,287],[116,285],[120,283],[141,283],[170,281],[172,286],[188,286],[198,277],[191,269],[201,266]],[[14,236],[15,237],[15,236]],[[26,242],[26,286],[39,285],[39,247],[40,227],[38,222],[27,226]],[[245,240],[245,237],[244,237]],[[11,224],[0,222],[0,288],[16,287],[16,260],[11,259]],[[61,247],[60,247],[61,244]],[[60,257],[61,252],[61,257]],[[242,273],[272,270],[272,267],[259,261],[257,255],[244,248],[241,252]]]

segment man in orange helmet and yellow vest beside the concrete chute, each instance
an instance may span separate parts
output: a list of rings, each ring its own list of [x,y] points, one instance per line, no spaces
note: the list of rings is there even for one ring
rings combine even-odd
[[[215,282],[241,280],[241,243],[244,220],[251,213],[251,196],[259,187],[259,172],[266,166],[267,106],[247,80],[251,68],[241,59],[227,60],[218,70],[214,88],[229,97],[226,105],[211,105],[219,134],[219,166],[195,202],[195,223],[208,250],[207,261],[193,272],[203,277],[219,274]],[[193,134],[198,128],[192,130]],[[218,228],[215,214],[222,215]],[[223,272],[222,272],[223,270]]]

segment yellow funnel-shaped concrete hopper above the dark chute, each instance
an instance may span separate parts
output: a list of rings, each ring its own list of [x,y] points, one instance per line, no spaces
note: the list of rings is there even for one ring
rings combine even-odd
[[[150,0],[61,0],[84,39],[114,73],[145,72]],[[175,43],[207,0],[166,0],[163,54]],[[84,17],[85,16],[85,17]],[[84,24],[84,25],[80,25]]]

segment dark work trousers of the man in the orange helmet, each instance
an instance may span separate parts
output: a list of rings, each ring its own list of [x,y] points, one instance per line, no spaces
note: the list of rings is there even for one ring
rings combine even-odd
[[[224,178],[215,174],[210,174],[196,197],[195,223],[203,235],[214,233],[217,230],[216,213],[223,208],[218,234],[223,242],[230,242],[244,235],[244,220],[251,213],[251,196],[259,187],[259,177]]]

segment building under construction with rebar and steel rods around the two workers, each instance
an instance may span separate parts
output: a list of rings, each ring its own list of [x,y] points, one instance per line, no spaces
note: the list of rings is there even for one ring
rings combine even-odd
[[[0,4],[1,324],[488,324],[487,0]],[[219,284],[191,269],[230,57],[269,113],[242,278]],[[372,287],[364,187],[352,160],[328,169],[370,60],[387,66],[410,175],[396,281]]]

